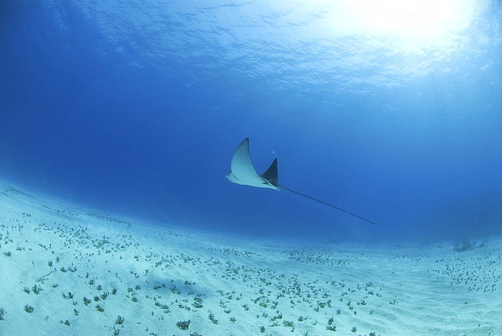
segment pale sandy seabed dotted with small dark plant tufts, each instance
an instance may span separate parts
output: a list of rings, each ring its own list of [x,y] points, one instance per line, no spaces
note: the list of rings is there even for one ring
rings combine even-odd
[[[249,239],[0,182],[0,335],[501,335],[501,247]]]

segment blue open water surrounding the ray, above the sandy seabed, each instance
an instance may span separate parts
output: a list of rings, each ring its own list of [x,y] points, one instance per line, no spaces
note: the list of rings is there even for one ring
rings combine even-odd
[[[257,237],[500,234],[500,3],[406,27],[361,3],[4,0],[0,178]],[[259,174],[278,157],[280,184],[376,224],[229,183],[246,137]]]

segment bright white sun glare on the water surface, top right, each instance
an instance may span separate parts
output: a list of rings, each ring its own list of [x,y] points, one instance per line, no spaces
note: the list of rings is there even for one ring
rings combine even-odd
[[[416,46],[443,44],[451,34],[470,25],[477,3],[477,0],[338,2],[332,7],[332,29],[337,35],[343,32],[397,37]]]

